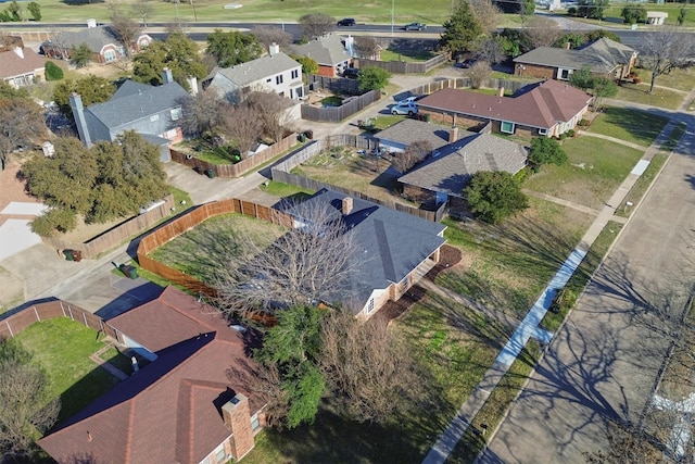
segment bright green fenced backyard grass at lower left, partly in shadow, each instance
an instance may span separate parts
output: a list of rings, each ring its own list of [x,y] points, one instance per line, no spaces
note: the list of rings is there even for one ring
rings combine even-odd
[[[60,397],[59,423],[118,383],[89,359],[104,347],[97,331],[66,317],[36,323],[15,340],[31,353],[31,362],[46,371],[49,397]]]

